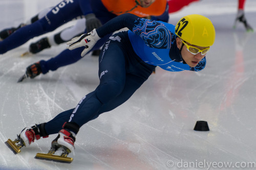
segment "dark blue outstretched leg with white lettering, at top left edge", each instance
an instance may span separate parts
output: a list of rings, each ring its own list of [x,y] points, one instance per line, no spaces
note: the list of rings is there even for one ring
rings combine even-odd
[[[81,15],[83,13],[79,0],[62,1],[53,7],[45,17],[35,21],[31,25],[18,29],[4,41],[0,42],[0,54],[4,54],[26,43],[33,37],[53,31],[64,23]]]

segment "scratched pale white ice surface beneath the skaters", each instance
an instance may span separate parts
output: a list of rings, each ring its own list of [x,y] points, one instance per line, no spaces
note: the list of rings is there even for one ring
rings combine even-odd
[[[0,30],[18,26],[59,0],[0,0]],[[98,85],[98,57],[91,54],[54,72],[17,80],[26,67],[56,56],[60,45],[20,57],[31,42],[0,55],[0,169],[237,169],[256,168],[256,1],[245,15],[254,28],[233,29],[236,0],[204,0],[178,13],[202,14],[216,28],[216,41],[200,72],[156,69],[132,98],[80,128],[70,164],[34,159],[47,153],[52,135],[14,155],[5,141],[26,126],[48,122],[74,108]],[[64,26],[65,27],[65,26]],[[194,131],[197,120],[210,131]],[[202,168],[201,168],[202,167]],[[229,168],[229,169],[230,169]]]

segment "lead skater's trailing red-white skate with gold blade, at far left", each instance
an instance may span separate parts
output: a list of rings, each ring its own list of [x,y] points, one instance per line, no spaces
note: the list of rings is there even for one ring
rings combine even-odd
[[[46,138],[48,135],[44,130],[45,124],[35,125],[31,128],[24,128],[17,138],[12,141],[8,139],[6,141],[7,146],[13,151],[14,154],[20,152],[20,148],[29,147],[31,143],[36,140],[39,140],[41,137]]]

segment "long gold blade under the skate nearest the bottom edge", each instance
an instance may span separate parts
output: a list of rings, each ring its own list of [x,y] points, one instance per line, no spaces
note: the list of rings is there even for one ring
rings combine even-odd
[[[73,158],[70,158],[70,157],[51,155],[51,154],[41,154],[41,153],[37,153],[35,158],[61,162],[61,163],[71,163],[73,161]]]

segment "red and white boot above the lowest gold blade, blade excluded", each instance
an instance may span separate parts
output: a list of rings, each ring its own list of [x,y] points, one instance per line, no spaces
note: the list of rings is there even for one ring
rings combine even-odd
[[[67,129],[62,129],[59,131],[58,136],[52,141],[52,148],[54,148],[55,150],[61,148],[67,153],[71,153],[75,149],[75,137],[75,133],[70,132]]]

